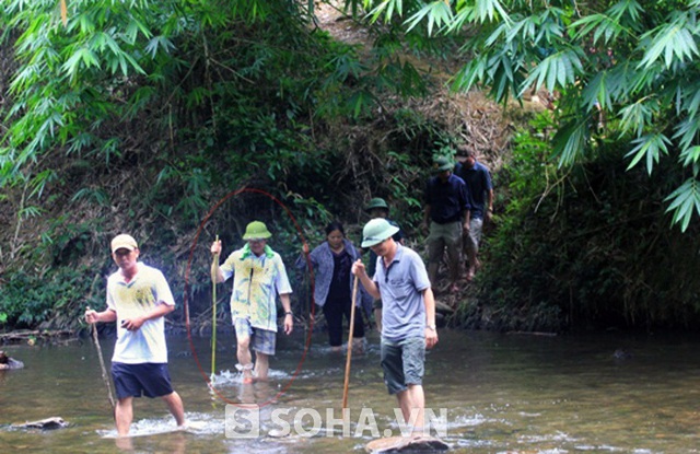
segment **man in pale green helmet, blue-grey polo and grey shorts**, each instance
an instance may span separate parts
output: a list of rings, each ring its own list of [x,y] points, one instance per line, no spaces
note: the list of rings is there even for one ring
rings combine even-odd
[[[392,238],[398,230],[385,219],[368,222],[362,231],[362,247],[370,247],[377,255],[376,271],[370,278],[362,261],[357,260],[352,273],[372,296],[382,299],[384,383],[389,394],[396,394],[404,421],[412,421],[413,433],[420,434],[425,416],[425,348],[438,344],[435,300],[423,260]]]

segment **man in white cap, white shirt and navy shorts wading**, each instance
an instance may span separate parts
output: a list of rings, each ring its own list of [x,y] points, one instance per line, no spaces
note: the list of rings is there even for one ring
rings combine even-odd
[[[112,357],[112,377],[117,393],[117,432],[127,435],[133,419],[133,397],[161,397],[178,427],[185,410],[173,391],[167,370],[164,316],[175,310],[175,299],[163,273],[138,261],[139,246],[130,235],[112,240],[112,258],[119,267],[107,279],[107,309],[88,307],[88,323],[118,322]]]

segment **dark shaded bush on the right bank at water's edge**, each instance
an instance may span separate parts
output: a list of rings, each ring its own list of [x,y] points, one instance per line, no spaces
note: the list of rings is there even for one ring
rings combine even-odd
[[[514,139],[499,174],[508,209],[487,238],[478,303],[463,309],[464,322],[548,331],[696,324],[700,260],[688,251],[698,228],[669,232],[663,208],[684,175],[664,163],[651,179],[626,170],[625,145],[612,140],[564,172],[548,148],[552,121],[541,115]]]

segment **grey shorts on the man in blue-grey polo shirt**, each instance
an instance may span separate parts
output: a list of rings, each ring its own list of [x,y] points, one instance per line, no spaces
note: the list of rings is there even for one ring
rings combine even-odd
[[[399,341],[382,338],[382,369],[389,394],[406,391],[408,385],[422,384],[424,364],[424,337],[410,337]]]

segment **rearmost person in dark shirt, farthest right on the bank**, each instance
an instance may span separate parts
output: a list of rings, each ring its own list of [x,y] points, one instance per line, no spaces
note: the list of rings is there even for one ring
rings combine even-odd
[[[471,206],[469,232],[463,237],[464,254],[467,257],[467,280],[470,281],[481,267],[477,254],[483,222],[490,222],[493,214],[493,185],[489,170],[477,161],[474,150],[463,144],[457,148],[457,152],[465,159],[455,165],[455,175],[467,184]]]

